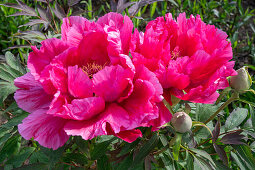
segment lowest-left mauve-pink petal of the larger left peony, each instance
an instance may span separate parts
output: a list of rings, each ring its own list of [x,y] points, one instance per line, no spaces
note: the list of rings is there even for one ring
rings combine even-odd
[[[46,112],[47,109],[33,112],[18,125],[18,130],[26,140],[34,138],[40,145],[56,150],[69,138],[63,130],[67,120],[47,115]]]

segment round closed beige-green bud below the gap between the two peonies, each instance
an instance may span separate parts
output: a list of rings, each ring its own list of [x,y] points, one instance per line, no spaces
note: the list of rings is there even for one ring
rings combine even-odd
[[[185,133],[191,129],[192,120],[185,112],[177,112],[173,115],[171,124],[177,132]]]

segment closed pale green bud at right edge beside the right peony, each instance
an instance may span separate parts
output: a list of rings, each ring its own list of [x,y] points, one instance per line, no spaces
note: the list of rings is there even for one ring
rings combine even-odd
[[[230,77],[230,87],[236,91],[248,90],[251,87],[252,80],[247,71],[247,67],[242,67],[236,71],[238,74]]]

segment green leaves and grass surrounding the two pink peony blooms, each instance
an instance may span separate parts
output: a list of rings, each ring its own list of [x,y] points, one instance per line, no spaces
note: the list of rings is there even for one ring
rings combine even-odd
[[[60,38],[61,20],[82,15],[96,20],[107,12],[129,15],[136,28],[170,12],[187,16],[199,14],[207,24],[227,32],[232,43],[236,68],[249,65],[255,70],[255,1],[251,0],[2,0],[0,5],[0,168],[4,169],[254,169],[255,95],[247,92],[233,102],[218,119],[196,134],[183,136],[179,160],[173,158],[169,141],[171,126],[126,143],[112,136],[90,141],[71,137],[56,151],[36,141],[26,141],[17,125],[28,115],[13,100],[13,80],[25,74],[30,45],[40,46],[46,38]],[[255,89],[255,86],[252,86]],[[174,111],[186,111],[194,121],[204,122],[231,96],[223,91],[219,104],[185,101]]]

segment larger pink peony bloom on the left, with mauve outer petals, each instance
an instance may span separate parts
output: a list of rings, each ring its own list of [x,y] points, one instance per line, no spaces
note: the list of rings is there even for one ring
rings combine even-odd
[[[170,121],[156,75],[128,56],[132,29],[131,20],[116,13],[96,23],[69,17],[61,40],[32,47],[31,72],[15,80],[15,99],[31,113],[18,126],[20,134],[57,149],[69,135],[132,142],[142,135],[137,127],[157,129]]]

